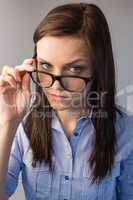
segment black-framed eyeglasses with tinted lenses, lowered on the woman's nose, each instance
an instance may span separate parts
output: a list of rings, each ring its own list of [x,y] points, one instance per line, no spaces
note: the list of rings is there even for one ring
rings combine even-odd
[[[81,76],[56,76],[48,72],[35,70],[33,72],[28,72],[31,79],[39,87],[50,88],[55,80],[58,80],[60,85],[67,91],[79,92],[82,91],[88,82],[92,80],[92,77],[81,77]]]

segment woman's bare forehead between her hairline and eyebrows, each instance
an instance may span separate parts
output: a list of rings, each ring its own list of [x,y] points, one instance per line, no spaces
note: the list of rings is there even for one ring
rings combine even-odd
[[[37,43],[38,57],[48,60],[89,57],[88,47],[83,39],[78,37],[54,37],[45,36]]]

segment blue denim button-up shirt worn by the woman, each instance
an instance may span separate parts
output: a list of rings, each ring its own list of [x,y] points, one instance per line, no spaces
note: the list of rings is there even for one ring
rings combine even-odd
[[[117,113],[115,127],[118,149],[112,173],[99,184],[91,184],[87,158],[95,129],[90,116],[78,119],[69,141],[53,111],[52,173],[44,162],[32,167],[32,149],[21,122],[11,149],[6,194],[15,192],[21,174],[27,200],[133,200],[133,116]]]

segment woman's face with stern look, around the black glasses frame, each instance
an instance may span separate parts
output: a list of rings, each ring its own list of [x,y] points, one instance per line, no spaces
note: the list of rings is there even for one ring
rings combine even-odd
[[[45,36],[37,43],[38,70],[49,72],[53,75],[91,77],[92,72],[88,57],[89,52],[84,41],[77,37]],[[71,62],[73,63],[70,64]],[[46,81],[43,75],[40,79],[42,84]],[[78,88],[81,82],[76,82],[73,79],[68,84],[69,87]],[[77,110],[83,107],[87,88],[88,84],[82,91],[70,92],[65,90],[58,80],[55,80],[51,87],[43,88],[43,92],[55,110]],[[53,94],[65,97],[56,97]]]

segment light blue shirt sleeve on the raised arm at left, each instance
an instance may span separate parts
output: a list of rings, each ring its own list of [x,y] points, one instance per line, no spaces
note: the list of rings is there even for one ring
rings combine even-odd
[[[10,197],[16,191],[19,174],[22,169],[23,149],[20,137],[20,133],[22,131],[23,127],[22,124],[20,123],[12,143],[11,153],[9,157],[8,172],[5,184],[5,194],[8,197]]]

